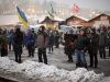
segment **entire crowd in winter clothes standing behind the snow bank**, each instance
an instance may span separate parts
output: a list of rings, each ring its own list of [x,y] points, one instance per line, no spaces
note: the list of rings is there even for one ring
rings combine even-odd
[[[73,30],[68,33],[64,32],[65,47],[64,52],[68,57],[68,62],[73,62],[73,55],[76,56],[76,68],[84,67],[87,69],[86,54],[89,54],[90,65],[89,67],[98,67],[98,50],[100,58],[106,59],[106,47],[109,47],[110,56],[110,32],[105,25],[100,25],[98,30],[95,27],[81,27],[77,30],[76,34],[73,34]],[[54,45],[59,48],[61,34],[57,28],[48,28],[40,26],[38,32],[34,28],[22,32],[20,25],[15,25],[14,30],[11,28],[8,32],[6,28],[0,28],[0,51],[1,57],[8,56],[9,51],[14,51],[15,61],[21,63],[21,55],[23,47],[28,49],[28,57],[34,57],[35,48],[38,52],[38,62],[47,65],[46,48],[48,54],[53,54]],[[42,56],[43,59],[42,60]]]

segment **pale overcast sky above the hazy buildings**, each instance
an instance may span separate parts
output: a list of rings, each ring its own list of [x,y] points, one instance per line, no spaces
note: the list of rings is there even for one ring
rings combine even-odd
[[[43,2],[44,0],[40,0]],[[98,9],[101,11],[110,10],[110,0],[46,0],[46,1],[55,1],[57,3],[68,3],[72,8],[74,3],[76,3],[79,8],[87,9]]]

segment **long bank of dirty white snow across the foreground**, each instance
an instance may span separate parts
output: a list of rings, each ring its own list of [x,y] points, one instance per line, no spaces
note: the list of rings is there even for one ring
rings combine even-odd
[[[84,68],[67,71],[30,60],[19,65],[8,58],[0,58],[0,69],[12,73],[23,73],[28,79],[40,79],[43,82],[100,82],[103,78],[103,73],[96,74]]]

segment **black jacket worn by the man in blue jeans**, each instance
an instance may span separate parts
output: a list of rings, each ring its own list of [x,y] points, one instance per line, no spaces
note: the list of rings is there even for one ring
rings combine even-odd
[[[78,38],[75,43],[75,49],[86,51],[89,43],[90,42],[87,35],[78,35]]]

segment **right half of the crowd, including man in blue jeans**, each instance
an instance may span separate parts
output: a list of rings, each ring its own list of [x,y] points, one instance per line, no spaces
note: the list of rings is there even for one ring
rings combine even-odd
[[[110,46],[110,32],[105,25],[100,25],[98,30],[95,27],[80,28],[77,34],[73,34],[69,30],[65,32],[65,54],[68,56],[69,62],[73,62],[73,55],[76,55],[76,68],[98,67],[98,50],[100,59],[106,59],[106,47]],[[89,54],[90,65],[87,66],[86,54]],[[109,55],[110,56],[110,47]]]

